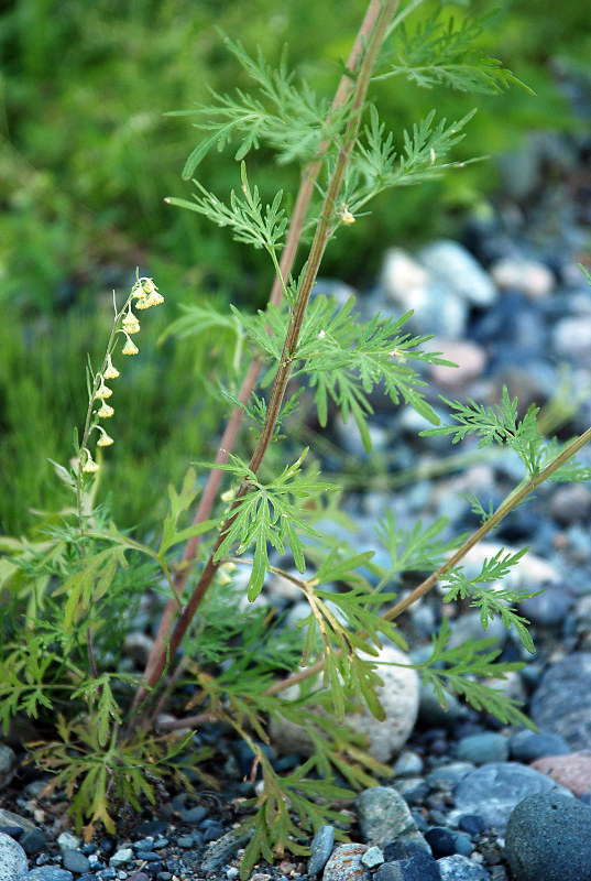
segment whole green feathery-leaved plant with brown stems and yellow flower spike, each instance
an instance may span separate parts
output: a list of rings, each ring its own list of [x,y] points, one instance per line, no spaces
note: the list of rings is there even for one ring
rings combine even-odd
[[[256,768],[262,771],[261,792],[250,805],[254,813],[243,823],[243,830],[252,833],[242,862],[245,878],[260,856],[302,853],[300,830],[343,819],[331,803],[350,791],[333,784],[336,772],[351,790],[387,774],[342,721],[348,709],[363,705],[383,718],[376,694],[379,651],[384,641],[405,648],[395,620],[437,581],[447,585],[445,601],[464,598],[480,609],[484,630],[500,616],[525,648],[533,649],[527,622],[514,608],[532,592],[488,588],[524,552],[501,552],[471,578],[462,559],[543,481],[589,479],[590,470],[573,457],[591,438],[591,428],[558,447],[540,434],[537,410],[532,407],[519,418],[517,403],[506,390],[496,406],[447,402],[451,424],[439,426],[424,394],[425,382],[413,366],[447,362],[424,348],[428,337],[405,333],[408,316],[390,320],[377,315],[362,322],[352,301],[339,307],[333,298],[311,297],[329,241],[337,233],[344,237],[374,196],[458,164],[449,161],[448,151],[463,137],[470,113],[452,123],[429,113],[395,137],[385,132],[368,100],[375,72],[383,77],[387,70],[383,45],[396,39],[416,6],[411,2],[398,11],[397,0],[371,0],[330,106],[317,100],[305,84],[296,84],[285,65],[273,69],[262,55],[251,58],[240,44],[227,40],[258,94],[218,96],[217,110],[197,111],[197,126],[208,134],[185,173],[193,175],[208,150],[233,141],[241,163],[240,189],[223,202],[196,182],[193,202],[171,203],[229,227],[238,241],[266,252],[274,284],[267,308],[255,316],[234,308],[229,319],[217,317],[212,308],[193,309],[176,325],[185,336],[198,335],[206,320],[216,333],[218,328],[229,333],[236,346],[237,357],[228,358],[229,389],[222,398],[233,410],[216,461],[194,464],[201,471],[209,468],[209,477],[200,485],[190,467],[180,491],[169,487],[168,513],[152,537],[119,529],[97,501],[101,464],[91,439],[97,434],[98,445],[111,443],[105,428],[111,415],[106,380],[117,381],[116,340],[123,334],[122,351],[133,354],[130,334],[140,329],[133,303],[141,308],[162,300],[150,279],[139,278],[123,308],[114,308],[101,367],[94,370],[89,365],[88,409],[81,435],[75,435],[75,460],[69,467],[55,466],[73,496],[72,505],[37,529],[34,540],[2,540],[0,583],[10,599],[2,611],[6,639],[0,659],[4,728],[23,713],[47,727],[56,710],[67,715],[55,730],[57,741],[32,749],[43,766],[57,772],[56,785],[76,791],[75,820],[78,826],[88,822],[88,835],[98,820],[109,828],[113,804],[136,806],[142,794],[154,800],[162,777],[176,770],[174,757],[189,747],[188,741],[175,747],[169,739],[163,744],[166,732],[168,737],[179,728],[198,729],[216,719],[251,746],[253,776]],[[437,42],[441,33],[447,34],[445,52],[426,53],[429,34]],[[423,86],[448,79],[456,88],[501,90],[513,77],[472,47],[473,33],[468,19],[441,31],[437,18],[426,18],[417,31],[404,32],[405,61],[394,73]],[[291,215],[281,192],[265,204],[250,183],[247,162],[263,143],[276,148],[280,159],[303,166]],[[296,273],[297,250],[306,233],[311,243]],[[238,348],[247,346],[253,360],[244,366]],[[296,380],[300,389],[307,383],[311,390],[321,425],[329,407],[337,409],[344,420],[354,420],[368,448],[370,393],[383,381],[395,403],[408,403],[436,426],[427,433],[452,434],[455,440],[475,434],[481,446],[512,449],[523,464],[523,480],[495,510],[486,511],[471,499],[482,523],[473,534],[451,543],[441,537],[442,520],[404,531],[386,513],[377,536],[391,565],[380,570],[381,581],[372,588],[360,574],[372,552],[359,553],[316,529],[322,515],[333,514],[331,494],[338,487],[321,481],[308,466],[308,450],[275,469],[277,456],[269,455],[281,449],[285,418],[302,405],[300,390],[292,392],[289,387]],[[232,453],[244,417],[254,428],[250,457]],[[220,494],[225,475],[230,475],[231,485]],[[274,566],[270,548],[291,555],[299,574]],[[309,563],[314,575],[307,577]],[[405,599],[383,592],[405,573],[426,568],[433,574]],[[308,617],[289,632],[272,609],[244,609],[242,569],[249,573],[249,600],[260,597],[267,573],[282,574],[308,602]],[[341,589],[329,590],[333,584]],[[165,598],[158,633],[143,674],[121,672],[111,620],[121,618],[149,588],[155,606]],[[486,685],[486,679],[518,666],[499,661],[494,639],[453,649],[448,643],[444,624],[434,638],[430,659],[416,665],[440,699],[445,701],[446,692],[456,692],[505,722],[528,724],[515,701]],[[295,701],[284,695],[293,685],[299,686]],[[164,708],[180,718],[162,720]],[[259,741],[267,739],[269,717],[297,722],[303,708],[310,719],[315,752],[300,769],[282,777]],[[83,717],[90,731],[80,727]],[[185,764],[203,759],[190,754]]]

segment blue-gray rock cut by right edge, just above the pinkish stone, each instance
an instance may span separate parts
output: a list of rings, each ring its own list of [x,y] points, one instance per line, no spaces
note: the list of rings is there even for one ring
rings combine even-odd
[[[561,735],[573,750],[591,742],[591,653],[574,652],[549,667],[532,698],[539,728]]]

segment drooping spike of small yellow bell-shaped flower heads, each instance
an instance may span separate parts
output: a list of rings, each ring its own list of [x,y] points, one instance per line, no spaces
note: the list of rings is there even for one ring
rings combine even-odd
[[[122,334],[125,338],[122,355],[138,355],[140,349],[132,340],[134,334],[140,333],[140,322],[138,316],[133,313],[132,303],[136,309],[149,309],[151,306],[158,306],[164,303],[164,297],[158,292],[152,279],[138,278],[138,281],[131,289],[125,305],[121,312],[116,314],[114,327],[107,347],[107,355],[102,363],[102,370],[95,377],[92,385],[92,393],[90,398],[90,413],[92,415],[91,424],[88,424],[88,431],[85,436],[87,442],[90,432],[97,431],[100,434],[97,440],[98,447],[109,447],[113,444],[113,438],[106,432],[100,424],[100,420],[110,418],[114,409],[107,403],[107,399],[111,398],[112,389],[106,384],[106,380],[113,380],[120,376],[120,371],[112,362],[112,352],[117,340],[117,335]],[[100,406],[95,410],[95,404]],[[100,466],[94,460],[88,446],[84,445],[81,449],[83,471],[85,474],[96,474]]]

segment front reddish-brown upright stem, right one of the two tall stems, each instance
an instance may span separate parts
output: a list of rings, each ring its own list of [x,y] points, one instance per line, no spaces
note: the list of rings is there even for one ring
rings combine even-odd
[[[297,346],[297,340],[299,338],[299,333],[302,329],[302,324],[304,320],[306,307],[309,302],[311,290],[316,281],[318,269],[320,267],[320,262],[322,260],[326,247],[332,233],[332,220],[335,215],[335,207],[342,186],[344,173],[349,164],[351,151],[353,149],[353,144],[359,132],[359,127],[361,124],[361,111],[365,104],[371,75],[374,65],[377,61],[380,48],[385,39],[387,28],[398,6],[398,0],[386,0],[386,2],[380,6],[381,6],[380,13],[375,19],[375,23],[371,31],[371,35],[369,36],[369,39],[365,37],[366,39],[365,51],[363,52],[362,59],[359,65],[359,73],[357,79],[354,80],[353,99],[351,102],[351,113],[349,122],[347,123],[346,127],[343,144],[339,150],[336,160],[335,170],[332,172],[328,191],[325,196],[322,209],[320,213],[320,218],[316,227],[310,252],[299,285],[297,300],[293,309],[289,326],[287,328],[287,335],[285,338],[285,344],[280,366],[277,369],[277,373],[275,376],[275,382],[273,384],[271,399],[267,405],[265,422],[261,429],[256,447],[254,449],[254,453],[252,454],[252,458],[249,464],[250,470],[253,471],[254,474],[256,474],[259,467],[261,466],[261,463],[263,461],[265,453],[273,437],[275,425],[281,411],[281,405],[283,402],[283,398],[285,395],[285,390],[287,388],[287,382],[292,371],[293,359]],[[372,4],[370,4],[370,9],[371,8]],[[361,43],[361,46],[363,46],[363,43]],[[280,291],[281,291],[282,280],[276,279],[276,283],[280,284]],[[204,572],[201,573],[201,576],[195,589],[193,590],[193,594],[186,607],[178,617],[175,627],[171,633],[169,646],[168,646],[169,657],[174,657],[177,649],[179,648],[185,637],[185,633],[187,632],[189,623],[193,620],[193,617],[197,608],[199,607],[207,589],[209,588],[216,575],[217,569],[221,564],[221,561],[216,561],[217,551],[223,541],[225,533],[232,524],[233,521],[232,511],[236,511],[236,508],[240,503],[241,498],[248,492],[248,489],[249,489],[249,482],[248,480],[243,480],[236,494],[234,501],[230,509],[229,516],[221,529],[220,535],[218,537],[218,541],[216,542],[214,551],[211,552],[206,563]],[[149,660],[150,670],[146,667],[146,671],[144,673],[145,686],[141,688],[136,694],[134,706],[136,706],[136,704],[140,703],[145,697],[146,689],[153,687],[164,673],[166,666],[166,651],[165,651],[166,646],[162,645],[162,642],[164,642],[164,640],[161,640],[160,642],[161,645],[158,646],[157,653],[155,653]]]

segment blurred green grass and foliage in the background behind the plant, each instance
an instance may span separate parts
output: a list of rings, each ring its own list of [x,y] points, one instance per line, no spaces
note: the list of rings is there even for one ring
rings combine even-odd
[[[420,10],[434,6],[425,0]],[[556,72],[590,75],[587,4],[499,6],[482,47],[537,98],[518,88],[466,96],[390,79],[374,93],[387,127],[400,132],[433,107],[458,119],[478,106],[459,159],[494,157],[519,149],[533,130],[580,124]],[[117,444],[106,457],[101,493],[111,497],[121,526],[141,521],[146,531],[164,511],[166,482],[178,482],[191,459],[210,454],[220,420],[210,394],[216,359],[207,359],[206,373],[204,351],[191,339],[156,347],[158,335],[182,304],[209,297],[261,306],[270,286],[264,255],[164,203],[190,197],[180,172],[198,137],[190,117],[165,113],[207,102],[208,86],[249,87],[216,25],[248,50],[259,44],[271,62],[287,43],[291,64],[331,97],[365,2],[6,0],[2,9],[0,532],[21,533],[36,522],[31,508],[63,501],[47,458],[72,455],[73,426],[86,411],[86,352],[101,356],[111,291],[122,302],[135,267],[156,280],[166,308],[147,314],[141,354],[128,359],[118,380]],[[461,15],[486,11],[489,3],[447,9]],[[277,167],[263,150],[249,157],[249,175],[263,196],[297,188],[298,170]],[[199,176],[227,195],[238,182],[232,151],[210,154]],[[329,249],[322,274],[369,284],[386,247],[449,235],[496,186],[490,161],[385,194]]]

